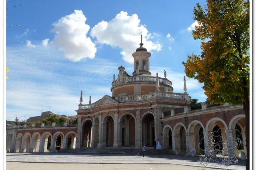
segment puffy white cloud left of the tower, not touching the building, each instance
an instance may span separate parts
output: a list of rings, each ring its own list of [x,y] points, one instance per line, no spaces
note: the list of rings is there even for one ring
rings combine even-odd
[[[85,23],[86,20],[82,11],[75,10],[53,24],[55,37],[52,44],[72,61],[95,57],[97,49],[90,37],[87,37],[90,26]]]

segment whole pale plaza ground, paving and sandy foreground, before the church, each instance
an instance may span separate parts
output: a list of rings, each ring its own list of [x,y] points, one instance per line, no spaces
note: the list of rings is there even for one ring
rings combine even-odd
[[[44,170],[54,167],[54,170],[206,170],[231,169],[245,170],[245,161],[240,160],[236,165],[228,167],[213,166],[201,167],[198,157],[177,155],[140,155],[124,154],[76,154],[76,153],[6,153],[7,170]],[[56,167],[56,168],[55,168]]]

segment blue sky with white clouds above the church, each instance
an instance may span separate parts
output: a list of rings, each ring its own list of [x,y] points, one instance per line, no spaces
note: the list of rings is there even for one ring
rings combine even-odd
[[[193,8],[204,0],[9,0],[6,11],[6,61],[8,120],[38,116],[51,110],[76,115],[80,91],[84,104],[111,95],[113,74],[120,65],[133,72],[131,53],[144,47],[152,53],[150,69],[173,82],[183,93],[183,61],[200,54]],[[192,98],[205,101],[202,85],[187,79]]]

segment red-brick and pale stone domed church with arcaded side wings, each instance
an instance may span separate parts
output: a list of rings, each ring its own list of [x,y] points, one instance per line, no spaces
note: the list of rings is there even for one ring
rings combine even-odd
[[[132,56],[134,72],[129,75],[123,66],[118,68],[118,75],[113,75],[112,96],[105,95],[94,103],[83,104],[81,91],[77,125],[44,126],[42,123],[41,127],[8,127],[6,152],[86,147],[140,149],[143,144],[153,147],[155,140],[163,149],[191,155],[192,150],[197,154],[207,149],[207,134],[216,129],[225,139],[236,140],[239,133],[240,145],[246,152],[242,106],[225,104],[207,108],[206,103],[202,103],[201,109],[191,111],[185,77],[184,93],[175,93],[166,71],[164,77],[151,75],[151,53],[142,42]],[[234,147],[233,142],[222,143],[221,147],[224,145],[233,147],[230,152],[238,157],[238,146]]]

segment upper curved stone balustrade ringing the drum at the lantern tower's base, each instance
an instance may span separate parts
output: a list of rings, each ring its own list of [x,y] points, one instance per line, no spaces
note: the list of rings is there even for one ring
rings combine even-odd
[[[172,82],[166,78],[158,77],[159,83],[172,86]],[[127,82],[156,82],[157,77],[154,76],[133,76],[133,77],[127,77],[125,83]],[[118,79],[113,81],[113,86],[119,85]]]

